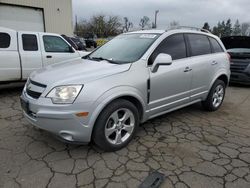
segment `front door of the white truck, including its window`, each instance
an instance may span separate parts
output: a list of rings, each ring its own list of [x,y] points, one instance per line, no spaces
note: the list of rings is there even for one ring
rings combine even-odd
[[[40,34],[42,41],[43,64],[51,65],[62,61],[81,58],[80,54],[74,50],[61,36],[54,34]]]

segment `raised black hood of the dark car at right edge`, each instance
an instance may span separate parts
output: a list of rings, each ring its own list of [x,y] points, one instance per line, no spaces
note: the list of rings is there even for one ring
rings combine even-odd
[[[250,48],[250,37],[247,36],[230,36],[221,38],[226,49],[233,48]]]

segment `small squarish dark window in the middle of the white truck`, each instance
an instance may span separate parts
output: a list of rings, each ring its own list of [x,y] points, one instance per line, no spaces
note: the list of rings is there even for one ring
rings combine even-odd
[[[23,39],[24,51],[37,51],[38,50],[36,35],[23,34],[22,39]]]

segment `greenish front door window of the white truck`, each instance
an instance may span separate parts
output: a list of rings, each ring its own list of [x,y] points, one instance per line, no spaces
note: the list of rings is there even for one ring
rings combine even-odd
[[[43,36],[46,52],[70,52],[70,46],[60,37]]]

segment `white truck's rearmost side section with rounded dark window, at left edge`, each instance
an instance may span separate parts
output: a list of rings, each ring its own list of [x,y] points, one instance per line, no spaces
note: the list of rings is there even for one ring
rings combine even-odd
[[[17,33],[14,30],[0,30],[0,82],[21,79],[21,67],[17,49]]]

